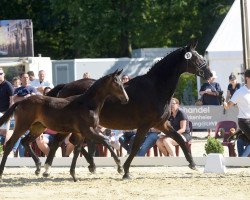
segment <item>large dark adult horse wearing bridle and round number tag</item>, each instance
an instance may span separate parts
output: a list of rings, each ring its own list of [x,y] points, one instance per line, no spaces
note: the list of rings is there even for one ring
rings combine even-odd
[[[196,43],[177,49],[157,62],[147,74],[138,76],[125,84],[129,103],[120,105],[107,99],[100,113],[100,124],[106,128],[117,130],[137,129],[132,152],[124,163],[124,176],[129,178],[129,167],[140,148],[143,139],[151,127],[173,138],[182,148],[189,162],[189,167],[195,169],[192,155],[188,152],[182,137],[167,121],[170,116],[170,100],[175,92],[179,77],[184,72],[196,74],[206,80],[212,76],[204,58],[195,51]],[[76,89],[84,90],[85,79],[66,84],[59,96],[67,92],[76,94]],[[72,85],[74,86],[72,87]],[[91,83],[92,84],[92,83]],[[87,86],[88,87],[88,86]],[[66,95],[65,95],[66,96]],[[52,151],[49,154],[53,154]],[[48,156],[49,158],[49,156]],[[46,160],[52,164],[53,156]],[[73,161],[75,162],[75,161]],[[74,169],[71,169],[73,171]]]

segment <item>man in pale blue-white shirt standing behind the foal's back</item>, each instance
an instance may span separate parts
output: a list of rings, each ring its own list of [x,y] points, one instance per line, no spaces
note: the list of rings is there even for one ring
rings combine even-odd
[[[45,80],[46,73],[44,70],[38,72],[38,79],[35,79],[31,82],[31,86],[35,87],[38,94],[43,94],[45,87],[53,88],[53,84]]]

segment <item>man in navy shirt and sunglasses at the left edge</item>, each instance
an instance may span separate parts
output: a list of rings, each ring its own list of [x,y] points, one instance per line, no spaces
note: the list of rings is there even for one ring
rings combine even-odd
[[[3,68],[0,68],[0,113],[4,114],[8,108],[13,104],[13,87],[11,83],[5,80],[5,73]],[[6,123],[6,133],[5,133],[5,142],[11,137],[10,121]]]

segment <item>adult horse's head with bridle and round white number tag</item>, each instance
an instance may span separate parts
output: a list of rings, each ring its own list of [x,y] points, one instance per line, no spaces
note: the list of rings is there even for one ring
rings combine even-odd
[[[184,65],[186,65],[186,72],[196,74],[204,79],[212,77],[212,73],[206,63],[206,60],[198,54],[195,50],[197,42],[192,42],[183,48]]]

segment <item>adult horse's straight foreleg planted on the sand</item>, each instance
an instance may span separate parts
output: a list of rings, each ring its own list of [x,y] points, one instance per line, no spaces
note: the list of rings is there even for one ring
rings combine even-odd
[[[135,135],[135,139],[132,145],[132,149],[131,149],[131,153],[129,154],[129,157],[127,158],[127,160],[125,161],[123,168],[124,168],[124,175],[123,175],[123,179],[129,179],[130,175],[129,175],[129,167],[130,164],[132,162],[132,160],[134,159],[135,155],[137,154],[137,152],[140,149],[140,146],[148,132],[149,128],[139,128],[137,129],[136,135]]]

